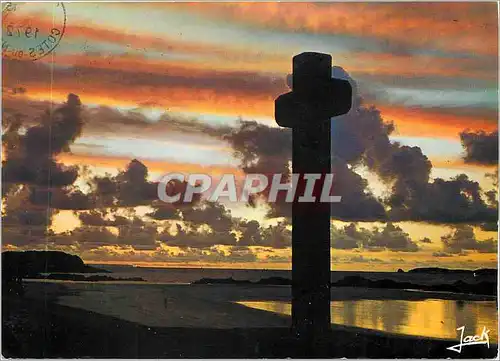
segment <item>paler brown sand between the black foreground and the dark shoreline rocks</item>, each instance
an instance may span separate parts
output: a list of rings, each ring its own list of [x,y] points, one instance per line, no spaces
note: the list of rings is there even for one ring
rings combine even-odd
[[[60,305],[80,308],[151,327],[289,327],[283,312],[265,312],[243,303],[285,304],[288,286],[179,285],[145,283],[27,283],[27,297],[52,294]],[[494,297],[393,289],[332,288],[332,301],[429,299],[494,301]],[[286,311],[284,311],[286,312]],[[492,319],[494,315],[491,315]],[[492,328],[492,327],[490,327]],[[495,327],[496,328],[496,327]],[[496,335],[496,331],[495,331]]]

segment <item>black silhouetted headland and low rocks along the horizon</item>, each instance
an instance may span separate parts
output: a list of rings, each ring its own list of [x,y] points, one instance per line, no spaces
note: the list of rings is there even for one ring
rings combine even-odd
[[[59,280],[75,282],[147,282],[142,277],[128,275],[127,277],[113,277],[96,275],[95,273],[112,273],[110,270],[90,266],[76,256],[59,251],[6,251],[2,253],[3,282],[7,285],[16,285],[23,279]],[[335,271],[333,271],[335,272]],[[458,278],[467,276],[469,282],[457,280],[454,282],[438,282],[436,284],[421,284],[419,282],[394,279],[369,279],[367,275],[345,276],[331,283],[331,287],[359,287],[379,289],[415,289],[422,291],[452,292],[474,295],[497,295],[497,270],[483,268],[477,270],[447,269],[439,267],[414,268],[407,272],[394,272],[406,275],[456,275]],[[87,275],[93,274],[93,275]],[[389,278],[389,277],[388,277]],[[472,278],[472,282],[471,281]],[[227,278],[197,279],[191,284],[219,284],[219,285],[270,285],[290,286],[290,277],[274,276],[261,277],[258,280]]]

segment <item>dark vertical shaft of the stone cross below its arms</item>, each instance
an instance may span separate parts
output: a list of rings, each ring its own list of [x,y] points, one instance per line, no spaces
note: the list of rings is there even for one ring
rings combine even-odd
[[[331,127],[329,122],[320,125],[293,130],[293,173],[330,173]],[[319,189],[323,180],[317,181]],[[298,189],[304,189],[301,182]],[[330,329],[330,204],[295,201],[292,207],[292,325],[312,347]]]

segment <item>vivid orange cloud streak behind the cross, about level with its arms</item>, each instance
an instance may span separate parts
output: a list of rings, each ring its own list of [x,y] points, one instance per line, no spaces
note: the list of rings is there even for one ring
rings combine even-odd
[[[122,90],[105,88],[104,85],[88,84],[54,84],[52,91],[37,88],[38,84],[29,86],[28,97],[34,100],[65,101],[67,94],[74,92],[80,95],[84,103],[106,106],[137,106],[146,102],[157,107],[170,110],[188,110],[222,115],[242,115],[245,117],[274,118],[274,96],[239,97],[219,94],[210,90],[193,89],[151,89],[137,87]],[[78,86],[80,85],[80,86]],[[458,116],[445,114],[436,110],[423,108],[404,108],[396,106],[377,106],[386,121],[393,121],[396,134],[408,136],[431,136],[456,138],[464,129],[494,131],[497,124],[474,116]]]

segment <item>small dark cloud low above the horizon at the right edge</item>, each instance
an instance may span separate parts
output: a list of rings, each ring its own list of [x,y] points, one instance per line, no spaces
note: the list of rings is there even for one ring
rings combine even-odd
[[[464,251],[477,251],[479,253],[497,253],[498,242],[493,239],[480,241],[476,239],[471,226],[462,225],[455,230],[441,237],[443,250],[447,253],[461,254]]]

